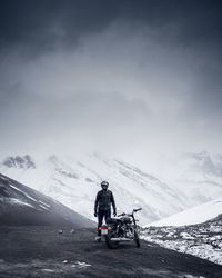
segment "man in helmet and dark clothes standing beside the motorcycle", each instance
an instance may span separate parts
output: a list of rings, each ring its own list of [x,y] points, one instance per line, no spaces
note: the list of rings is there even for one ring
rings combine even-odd
[[[114,202],[114,197],[112,191],[108,190],[109,182],[101,182],[102,190],[100,190],[97,195],[94,201],[94,217],[98,217],[98,237],[97,241],[101,241],[101,230],[99,229],[102,226],[103,217],[107,220],[111,217],[111,205],[113,208],[113,215],[117,216],[117,208]]]

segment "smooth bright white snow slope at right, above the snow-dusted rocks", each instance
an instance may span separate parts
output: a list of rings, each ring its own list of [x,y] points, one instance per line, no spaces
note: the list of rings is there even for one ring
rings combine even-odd
[[[184,226],[195,225],[210,220],[222,214],[222,197],[216,198],[213,201],[205,202],[203,205],[186,209],[182,212],[172,215],[168,218],[163,218],[159,221],[151,222],[148,226]]]

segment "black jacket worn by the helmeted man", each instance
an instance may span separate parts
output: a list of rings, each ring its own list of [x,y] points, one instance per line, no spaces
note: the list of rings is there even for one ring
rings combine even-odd
[[[95,201],[94,201],[94,211],[98,210],[109,210],[111,209],[111,203],[113,211],[115,212],[115,202],[112,191],[110,190],[100,190],[97,195]]]

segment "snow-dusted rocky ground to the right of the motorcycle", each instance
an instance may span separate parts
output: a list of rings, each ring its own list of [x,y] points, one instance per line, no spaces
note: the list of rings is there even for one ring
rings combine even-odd
[[[148,227],[142,238],[222,265],[222,215],[199,225]]]

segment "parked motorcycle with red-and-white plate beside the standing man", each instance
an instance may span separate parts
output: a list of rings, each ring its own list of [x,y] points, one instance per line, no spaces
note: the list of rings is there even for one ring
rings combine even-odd
[[[139,226],[134,214],[141,210],[133,209],[132,214],[121,214],[115,218],[110,218],[107,225],[100,227],[101,235],[105,238],[105,244],[110,249],[118,248],[120,242],[134,241],[140,247]]]

